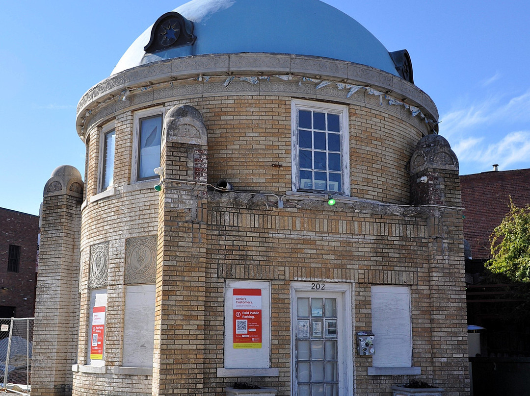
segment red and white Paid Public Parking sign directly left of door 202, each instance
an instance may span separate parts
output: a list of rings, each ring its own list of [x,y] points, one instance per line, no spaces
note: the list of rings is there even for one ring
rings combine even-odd
[[[234,289],[234,349],[261,348],[261,289]]]

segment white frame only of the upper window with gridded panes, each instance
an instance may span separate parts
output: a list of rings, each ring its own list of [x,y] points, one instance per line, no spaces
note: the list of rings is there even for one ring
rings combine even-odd
[[[300,159],[298,155],[298,110],[319,111],[324,113],[337,114],[340,124],[340,145],[341,145],[341,174],[342,174],[342,191],[329,192],[324,190],[312,190],[314,193],[330,193],[334,195],[350,196],[350,145],[349,145],[349,122],[348,106],[305,101],[301,99],[291,100],[291,178],[293,191],[300,191]],[[304,190],[307,192],[307,190]]]

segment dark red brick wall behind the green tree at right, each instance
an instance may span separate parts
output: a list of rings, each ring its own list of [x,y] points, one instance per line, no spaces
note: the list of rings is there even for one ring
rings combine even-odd
[[[521,207],[530,203],[530,169],[460,176],[464,238],[473,259],[490,257],[490,235],[509,211],[510,195]]]

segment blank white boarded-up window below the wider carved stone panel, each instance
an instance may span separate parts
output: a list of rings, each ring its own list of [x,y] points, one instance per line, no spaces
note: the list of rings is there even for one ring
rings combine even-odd
[[[122,366],[152,367],[154,334],[155,285],[127,286]]]

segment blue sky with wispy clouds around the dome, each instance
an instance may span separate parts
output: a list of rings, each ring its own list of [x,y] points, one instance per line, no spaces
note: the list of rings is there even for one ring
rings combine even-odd
[[[325,2],[389,51],[409,51],[414,82],[438,106],[439,132],[456,152],[461,174],[487,172],[492,164],[530,167],[530,3]],[[183,3],[2,2],[1,207],[38,214],[55,167],[73,165],[83,174],[77,102],[110,75],[138,35]],[[259,22],[259,1],[249,18]]]

